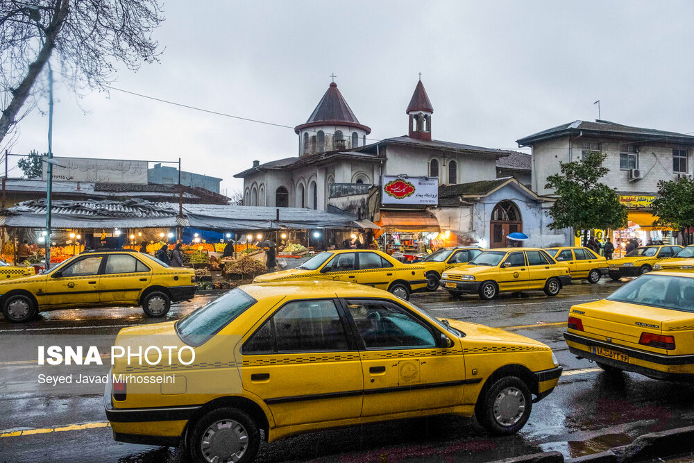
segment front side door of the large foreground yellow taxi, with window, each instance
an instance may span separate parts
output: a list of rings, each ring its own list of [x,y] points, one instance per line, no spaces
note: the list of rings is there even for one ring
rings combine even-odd
[[[348,299],[346,305],[362,343],[362,416],[462,404],[464,358],[455,344],[439,346],[439,330],[391,301]]]

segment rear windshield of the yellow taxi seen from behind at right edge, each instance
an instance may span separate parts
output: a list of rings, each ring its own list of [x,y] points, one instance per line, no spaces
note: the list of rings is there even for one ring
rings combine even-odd
[[[617,289],[607,300],[694,312],[694,278],[642,275]]]

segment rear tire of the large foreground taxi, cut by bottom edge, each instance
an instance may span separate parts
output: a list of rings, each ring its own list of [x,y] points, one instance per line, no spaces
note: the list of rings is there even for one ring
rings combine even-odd
[[[186,446],[195,463],[252,462],[260,448],[260,430],[243,410],[219,408],[198,419],[188,433]]]

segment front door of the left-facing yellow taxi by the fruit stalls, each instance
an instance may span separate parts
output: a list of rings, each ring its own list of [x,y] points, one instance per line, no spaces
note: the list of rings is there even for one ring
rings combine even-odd
[[[99,303],[99,271],[103,255],[85,255],[58,269],[46,281],[44,301],[39,305],[78,305]]]

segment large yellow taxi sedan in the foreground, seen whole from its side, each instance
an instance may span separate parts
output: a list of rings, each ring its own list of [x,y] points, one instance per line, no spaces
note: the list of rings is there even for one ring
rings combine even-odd
[[[561,376],[541,342],[350,283],[241,286],[179,321],[124,328],[115,346],[135,339],[174,355],[114,362],[104,391],[114,438],[184,444],[193,462],[251,461],[261,436],[416,416],[476,416],[509,435]]]

